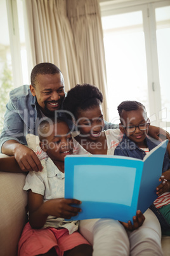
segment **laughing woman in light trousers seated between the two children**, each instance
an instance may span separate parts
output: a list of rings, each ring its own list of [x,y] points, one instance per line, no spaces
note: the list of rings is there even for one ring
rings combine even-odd
[[[76,85],[68,92],[63,106],[74,115],[79,132],[75,153],[114,154],[121,134],[119,130],[102,131],[102,101],[100,90],[93,85]],[[160,224],[150,209],[144,215],[137,211],[133,225],[111,219],[82,220],[80,231],[93,244],[93,255],[162,255]]]

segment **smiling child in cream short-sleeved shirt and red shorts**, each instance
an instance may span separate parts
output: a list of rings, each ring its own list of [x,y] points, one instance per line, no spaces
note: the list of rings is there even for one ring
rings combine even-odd
[[[29,223],[18,244],[18,256],[92,255],[92,247],[77,231],[77,221],[65,221],[81,211],[80,201],[64,199],[64,158],[73,143],[65,122],[47,119],[39,125],[37,156],[44,167],[27,175],[24,190],[29,196]],[[77,204],[72,207],[70,204]]]

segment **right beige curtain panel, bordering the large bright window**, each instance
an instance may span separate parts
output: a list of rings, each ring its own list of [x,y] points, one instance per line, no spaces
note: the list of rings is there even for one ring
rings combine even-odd
[[[107,78],[100,6],[97,0],[67,0],[67,15],[74,34],[81,83],[92,83],[101,90],[107,120]]]

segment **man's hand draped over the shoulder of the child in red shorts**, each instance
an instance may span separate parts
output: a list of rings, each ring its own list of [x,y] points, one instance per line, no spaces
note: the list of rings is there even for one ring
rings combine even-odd
[[[42,171],[42,165],[36,153],[27,146],[18,143],[14,150],[14,156],[23,172]]]

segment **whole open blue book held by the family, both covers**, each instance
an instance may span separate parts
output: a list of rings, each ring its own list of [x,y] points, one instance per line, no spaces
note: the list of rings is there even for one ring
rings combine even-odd
[[[117,155],[65,157],[65,198],[82,201],[81,213],[70,220],[133,222],[136,210],[144,213],[157,198],[167,143],[160,143],[143,160]]]

